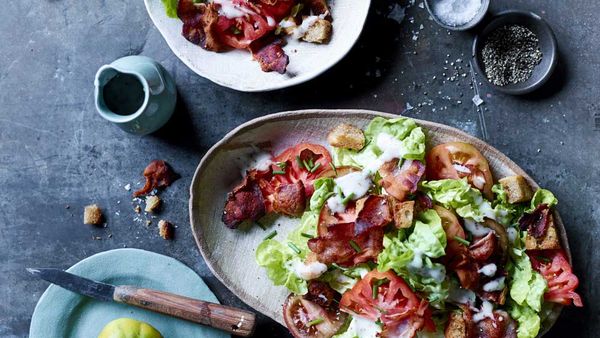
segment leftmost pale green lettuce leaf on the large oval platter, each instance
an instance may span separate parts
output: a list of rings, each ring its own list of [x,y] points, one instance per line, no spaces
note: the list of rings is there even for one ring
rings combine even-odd
[[[284,285],[293,293],[303,295],[308,292],[308,285],[291,271],[293,259],[299,259],[296,253],[274,239],[263,241],[256,249],[256,262],[265,268],[273,284]]]

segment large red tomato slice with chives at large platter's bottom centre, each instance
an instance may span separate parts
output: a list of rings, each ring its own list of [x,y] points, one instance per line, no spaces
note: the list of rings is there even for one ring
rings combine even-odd
[[[423,327],[430,330],[435,327],[427,301],[420,299],[392,271],[380,272],[375,269],[369,272],[344,293],[340,308],[345,312],[380,321],[384,325],[384,332],[412,330],[414,334]]]

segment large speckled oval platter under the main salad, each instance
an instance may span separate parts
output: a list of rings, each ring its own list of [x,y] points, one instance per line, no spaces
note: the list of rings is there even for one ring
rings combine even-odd
[[[267,231],[257,226],[231,230],[221,222],[226,195],[242,179],[240,159],[271,143],[274,154],[300,142],[318,143],[331,149],[326,137],[342,122],[364,128],[376,116],[398,115],[368,110],[303,110],[260,117],[246,122],[227,134],[204,156],[190,187],[190,220],[196,243],[215,276],[248,305],[284,325],[282,305],[289,292],[273,286],[264,269],[255,260],[256,247],[272,229],[285,238],[297,220],[285,217],[273,221]],[[428,148],[436,144],[463,141],[477,147],[488,159],[495,180],[510,175],[524,176],[532,187],[538,185],[518,165],[485,142],[458,129],[429,121],[415,121],[427,132]],[[570,258],[565,229],[555,214],[562,244]],[[544,323],[552,326],[560,307]]]

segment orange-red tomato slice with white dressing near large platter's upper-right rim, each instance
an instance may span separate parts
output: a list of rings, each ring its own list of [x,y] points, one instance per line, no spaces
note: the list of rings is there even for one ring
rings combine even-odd
[[[486,198],[493,198],[494,181],[488,161],[477,148],[468,143],[449,142],[433,147],[427,153],[426,170],[430,180],[466,177]]]

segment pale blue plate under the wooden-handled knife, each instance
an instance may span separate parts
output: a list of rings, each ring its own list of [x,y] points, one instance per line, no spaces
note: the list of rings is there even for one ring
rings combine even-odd
[[[192,269],[179,261],[139,249],[117,249],[88,257],[67,271],[100,282],[135,285],[218,303]],[[177,276],[177,278],[173,278]],[[51,285],[31,318],[30,338],[97,337],[113,319],[129,317],[154,326],[165,338],[230,337],[223,331],[133,306],[101,302]]]

